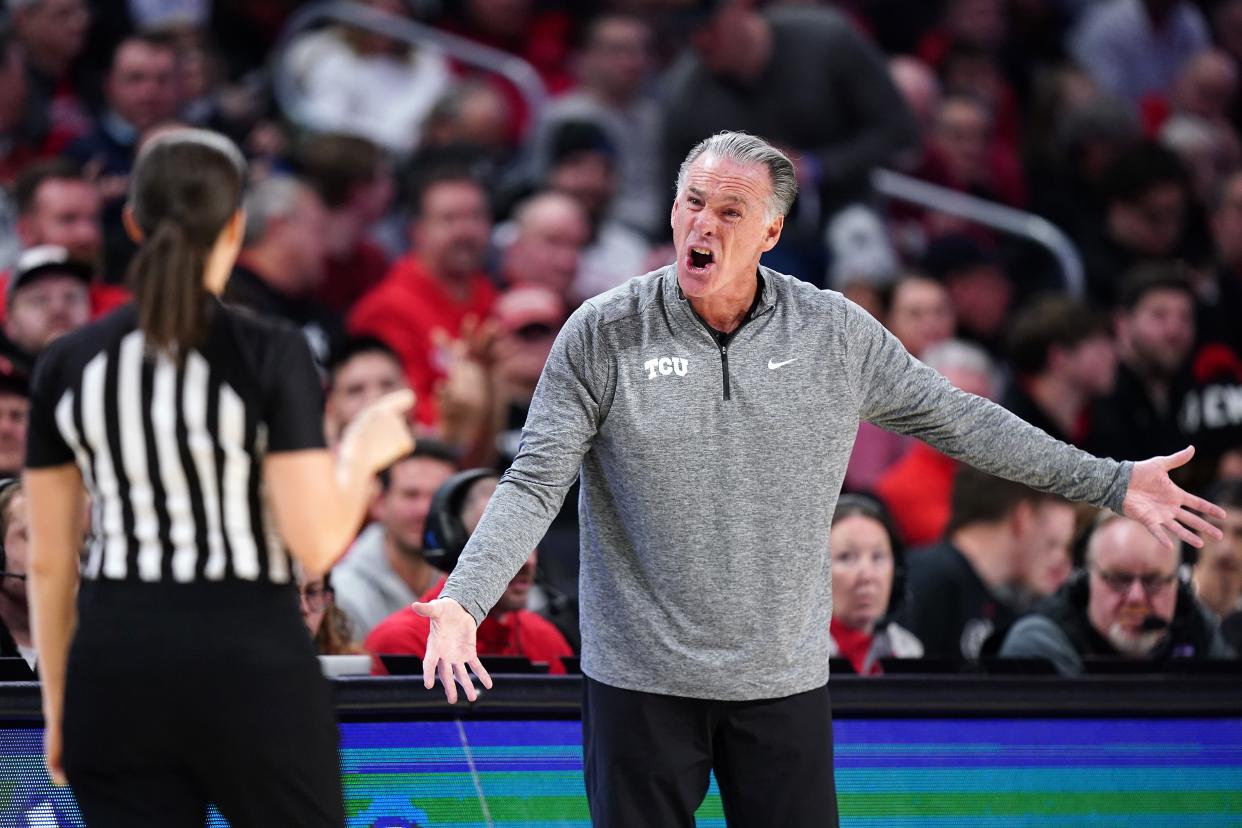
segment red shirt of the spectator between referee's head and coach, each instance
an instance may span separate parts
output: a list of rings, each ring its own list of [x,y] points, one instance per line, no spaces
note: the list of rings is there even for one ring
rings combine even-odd
[[[410,387],[419,396],[419,422],[436,423],[436,382],[445,377],[431,344],[431,331],[458,336],[466,317],[479,320],[492,313],[497,290],[483,273],[468,279],[469,295],[458,302],[411,253],[389,271],[374,290],[358,300],[349,330],[383,339],[401,358]]]

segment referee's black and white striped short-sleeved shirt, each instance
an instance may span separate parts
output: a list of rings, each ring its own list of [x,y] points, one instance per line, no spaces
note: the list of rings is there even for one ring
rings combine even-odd
[[[148,353],[134,305],[40,356],[27,468],[76,463],[91,494],[83,577],[291,581],[263,489],[271,452],[322,448],[323,397],[301,333],[217,304],[178,366]]]

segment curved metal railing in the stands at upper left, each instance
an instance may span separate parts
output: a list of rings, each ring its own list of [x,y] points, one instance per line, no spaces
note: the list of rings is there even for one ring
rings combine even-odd
[[[272,48],[270,61],[272,93],[276,96],[276,102],[281,110],[299,127],[310,129],[314,124],[306,115],[306,96],[298,88],[298,81],[286,57],[289,45],[299,35],[320,24],[344,24],[411,46],[430,43],[448,57],[467,66],[494,72],[518,89],[530,114],[527,118],[528,124],[538,123],[539,114],[548,103],[548,89],[544,87],[543,79],[534,67],[520,57],[482,46],[409,17],[390,15],[374,6],[349,0],[324,0],[323,2],[312,2],[289,16]]]

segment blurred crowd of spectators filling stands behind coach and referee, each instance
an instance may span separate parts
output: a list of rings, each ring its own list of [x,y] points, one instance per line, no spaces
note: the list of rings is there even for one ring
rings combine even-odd
[[[1242,0],[7,0],[0,470],[21,468],[39,351],[128,300],[135,153],[179,124],[222,132],[251,161],[226,300],[304,331],[329,444],[368,401],[417,394],[419,447],[302,585],[303,614],[323,653],[421,654],[407,605],[445,575],[425,554],[435,493],[503,472],[561,323],[672,261],[677,165],[740,129],[801,185],[765,264],[1066,442],[1194,443],[1179,482],[1228,513],[1223,540],[1171,551],[864,425],[831,534],[842,669],[1230,658],[1240,61]],[[468,531],[494,484],[440,508]],[[10,487],[6,574],[24,534]],[[571,665],[576,554],[571,490],[484,653]],[[30,644],[24,583],[0,576],[0,654]]]

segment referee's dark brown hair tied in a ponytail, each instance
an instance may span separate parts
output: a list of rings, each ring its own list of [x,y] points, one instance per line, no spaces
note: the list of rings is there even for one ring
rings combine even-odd
[[[150,348],[184,359],[206,335],[207,257],[241,207],[246,161],[224,135],[176,129],[138,155],[129,211],[142,246],[129,266],[138,325]]]

